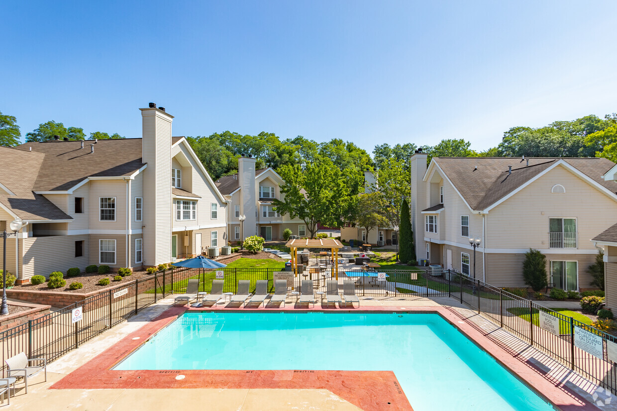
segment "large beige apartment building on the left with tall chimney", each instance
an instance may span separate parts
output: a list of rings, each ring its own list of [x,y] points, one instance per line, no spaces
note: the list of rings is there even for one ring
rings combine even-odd
[[[0,147],[0,229],[20,283],[70,267],[141,269],[226,243],[226,200],[173,116],[141,108],[143,137]],[[1,257],[1,256],[0,256]]]

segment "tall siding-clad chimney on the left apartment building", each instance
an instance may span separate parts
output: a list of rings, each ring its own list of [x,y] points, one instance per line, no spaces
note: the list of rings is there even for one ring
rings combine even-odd
[[[154,106],[154,107],[152,107]],[[141,110],[143,171],[144,265],[172,261],[172,121],[173,116],[150,104]]]

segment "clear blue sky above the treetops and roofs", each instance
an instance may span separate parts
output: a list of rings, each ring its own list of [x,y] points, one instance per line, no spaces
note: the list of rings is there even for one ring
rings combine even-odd
[[[141,136],[470,140],[617,112],[615,1],[3,2],[0,112]]]

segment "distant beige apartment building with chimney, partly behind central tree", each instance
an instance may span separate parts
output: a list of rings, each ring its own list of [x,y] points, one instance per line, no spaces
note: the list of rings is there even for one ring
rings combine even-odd
[[[238,159],[238,173],[217,180],[218,190],[228,201],[227,220],[231,242],[241,242],[251,235],[270,240],[283,240],[283,231],[294,235],[308,235],[306,224],[300,219],[281,216],[275,211],[273,200],[283,200],[284,181],[273,168],[255,169],[255,159]],[[240,217],[246,219],[242,222]]]

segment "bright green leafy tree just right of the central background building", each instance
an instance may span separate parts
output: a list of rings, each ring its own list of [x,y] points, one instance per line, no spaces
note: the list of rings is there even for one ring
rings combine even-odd
[[[285,181],[281,185],[284,201],[273,201],[279,213],[304,221],[311,237],[317,232],[318,222],[328,227],[341,225],[352,196],[344,182],[346,176],[332,161],[320,158],[304,170],[299,165],[284,165],[279,173]]]

